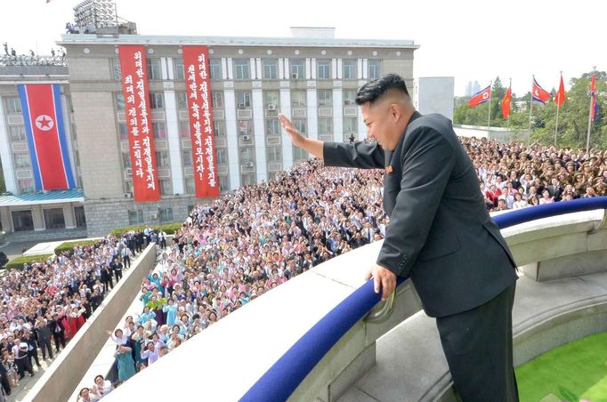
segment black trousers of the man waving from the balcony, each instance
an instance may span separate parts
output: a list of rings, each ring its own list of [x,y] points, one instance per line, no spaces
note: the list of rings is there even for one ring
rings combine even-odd
[[[481,306],[436,318],[451,377],[464,402],[519,400],[512,355],[515,284]]]

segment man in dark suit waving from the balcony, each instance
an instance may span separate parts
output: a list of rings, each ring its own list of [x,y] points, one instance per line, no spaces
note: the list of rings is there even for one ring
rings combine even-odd
[[[325,165],[385,169],[384,244],[371,267],[386,299],[410,277],[436,318],[455,387],[464,401],[517,401],[512,358],[514,259],[491,221],[472,161],[449,119],[420,115],[401,76],[363,85],[356,98],[375,142],[304,138],[284,116],[295,146]]]

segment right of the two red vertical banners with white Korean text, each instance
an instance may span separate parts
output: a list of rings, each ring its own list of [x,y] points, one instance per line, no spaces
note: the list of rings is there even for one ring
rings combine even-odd
[[[208,48],[206,46],[183,46],[182,51],[185,87],[190,110],[190,136],[196,197],[219,197],[211,85],[208,73]]]

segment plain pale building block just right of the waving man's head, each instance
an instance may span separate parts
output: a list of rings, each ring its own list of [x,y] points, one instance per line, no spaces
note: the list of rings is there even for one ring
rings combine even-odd
[[[413,103],[422,114],[440,113],[453,120],[454,78],[421,76],[413,81]]]

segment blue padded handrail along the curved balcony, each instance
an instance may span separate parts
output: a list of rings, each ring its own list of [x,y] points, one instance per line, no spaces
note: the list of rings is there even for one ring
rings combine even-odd
[[[607,209],[607,197],[577,199],[536,205],[493,217],[500,229],[527,221]],[[398,278],[397,286],[404,279]],[[361,285],[344,301],[321,318],[257,382],[247,390],[242,401],[284,401],[312,371],[344,334],[376,305],[380,296],[373,290],[373,280]]]

